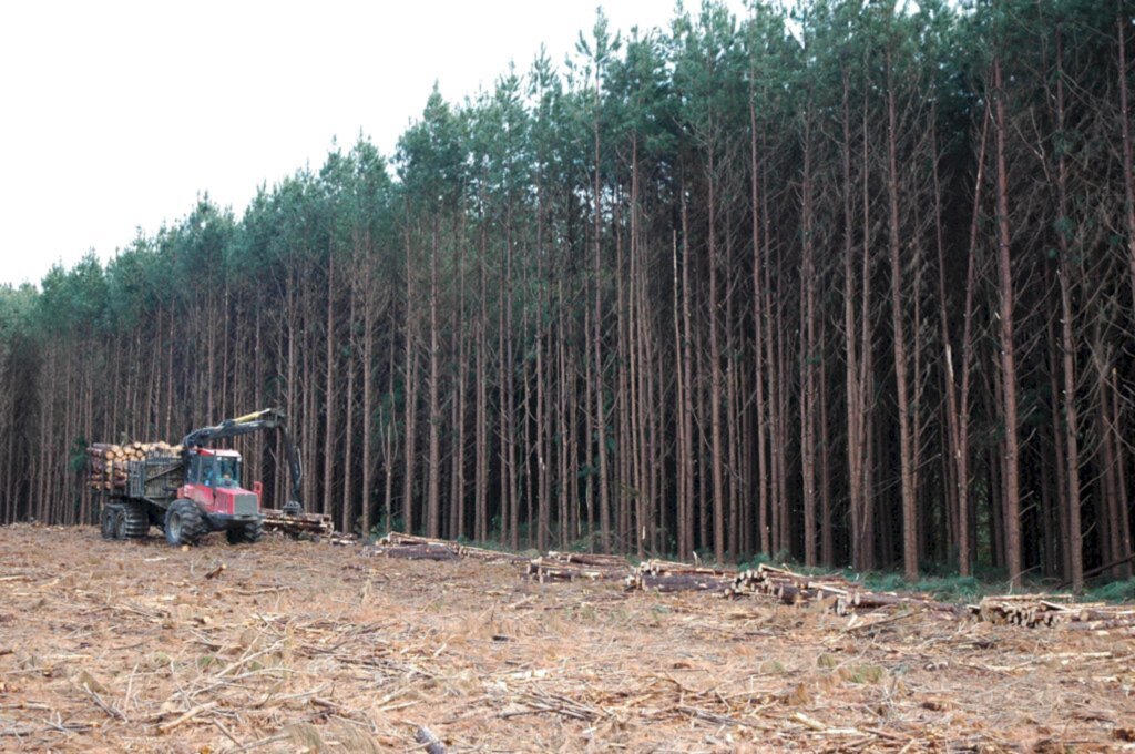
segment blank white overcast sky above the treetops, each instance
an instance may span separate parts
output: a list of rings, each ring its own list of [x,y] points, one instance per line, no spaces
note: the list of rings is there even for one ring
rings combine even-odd
[[[261,183],[359,133],[389,154],[435,81],[451,101],[560,64],[598,2],[196,0],[0,5],[0,284],[108,259],[208,191],[239,216]],[[672,0],[604,0],[614,28]],[[698,2],[688,2],[692,8]],[[741,0],[731,0],[741,12]]]

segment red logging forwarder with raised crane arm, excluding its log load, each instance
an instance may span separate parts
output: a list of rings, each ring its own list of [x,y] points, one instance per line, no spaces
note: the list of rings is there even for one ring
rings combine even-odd
[[[261,509],[263,485],[241,486],[241,454],[212,449],[212,443],[262,429],[277,429],[287,453],[292,499],[283,510]],[[225,531],[229,544],[258,542],[264,528],[300,534],[329,534],[330,517],[303,513],[300,483],[303,468],[284,426],[284,414],[264,409],[215,427],[194,429],[182,441],[179,455],[151,455],[127,464],[126,484],[108,493],[102,536],[141,538],[151,526],[171,545],[191,545],[210,531]]]

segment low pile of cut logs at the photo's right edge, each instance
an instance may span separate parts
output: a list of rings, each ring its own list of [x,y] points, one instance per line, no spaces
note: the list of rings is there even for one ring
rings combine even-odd
[[[1074,631],[1135,629],[1135,608],[1073,602],[1069,594],[1010,594],[985,597],[969,610],[978,620],[1027,628],[1063,626]]]

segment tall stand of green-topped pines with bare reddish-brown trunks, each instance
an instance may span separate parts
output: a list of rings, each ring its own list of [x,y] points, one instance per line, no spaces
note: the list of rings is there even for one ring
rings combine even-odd
[[[343,531],[1129,578],[1133,57],[1129,0],[599,11],[390,154],[0,287],[0,523],[278,407]]]

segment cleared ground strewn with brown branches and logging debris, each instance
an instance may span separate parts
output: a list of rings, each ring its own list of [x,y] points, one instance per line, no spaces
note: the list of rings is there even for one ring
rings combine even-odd
[[[0,751],[424,751],[420,727],[449,752],[1135,751],[1130,637],[848,625],[468,560],[0,528]]]

